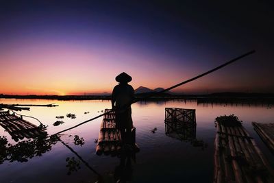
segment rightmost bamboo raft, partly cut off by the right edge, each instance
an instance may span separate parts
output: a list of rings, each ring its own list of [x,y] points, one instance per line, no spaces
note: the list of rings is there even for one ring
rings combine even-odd
[[[274,154],[274,123],[252,123],[254,130]]]

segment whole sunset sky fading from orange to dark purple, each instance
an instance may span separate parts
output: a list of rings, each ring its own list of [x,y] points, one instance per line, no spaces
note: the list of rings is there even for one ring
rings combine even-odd
[[[12,3],[11,3],[12,2]],[[167,88],[256,49],[175,91],[274,93],[274,12],[266,1],[1,1],[0,93]]]

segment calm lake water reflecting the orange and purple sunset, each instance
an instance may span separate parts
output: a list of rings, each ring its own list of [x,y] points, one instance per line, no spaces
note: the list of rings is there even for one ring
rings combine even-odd
[[[67,127],[71,127],[102,114],[101,110],[110,108],[110,101],[55,101],[38,99],[0,99],[0,103],[55,103],[58,107],[31,107],[30,111],[18,112],[27,116],[36,117],[45,125],[49,125],[47,132],[54,134]],[[194,147],[190,142],[179,141],[177,138],[166,136],[164,127],[165,108],[189,108],[196,110],[197,131],[196,138],[208,146],[206,148]],[[84,114],[84,112],[89,112]],[[66,118],[66,114],[76,114],[76,119]],[[274,167],[274,158],[269,149],[253,130],[252,121],[260,123],[274,122],[274,108],[271,106],[248,106],[242,104],[199,104],[197,101],[158,101],[139,102],[132,105],[132,119],[136,127],[136,143],[140,152],[136,154],[136,162],[132,164],[132,182],[212,182],[213,178],[213,153],[216,129],[214,119],[224,114],[235,114],[255,138],[258,147]],[[53,126],[55,117],[63,115],[65,122]],[[34,119],[25,118],[36,125]],[[102,119],[86,123],[73,130],[62,134],[61,139],[73,148],[92,169],[103,176],[105,182],[113,182],[116,167],[120,160],[112,156],[97,156],[95,154],[95,139],[98,138],[99,127]],[[157,128],[155,133],[151,130]],[[75,135],[84,138],[85,144],[75,145]],[[0,128],[0,136],[6,136],[9,143],[16,144],[8,132]],[[27,162],[9,162],[0,164],[0,182],[96,182],[98,176],[90,171],[84,163],[81,169],[67,175],[66,158],[75,157],[72,151],[58,142],[42,156],[35,156]]]

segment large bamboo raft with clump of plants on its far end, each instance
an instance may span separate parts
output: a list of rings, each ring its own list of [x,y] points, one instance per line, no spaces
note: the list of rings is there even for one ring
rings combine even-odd
[[[273,169],[245,127],[223,122],[216,121],[213,182],[273,182]]]

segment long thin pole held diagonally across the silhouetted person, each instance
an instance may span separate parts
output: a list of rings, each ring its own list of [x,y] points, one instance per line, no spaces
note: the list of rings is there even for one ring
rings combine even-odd
[[[149,98],[149,97],[152,97],[152,96],[155,95],[155,94],[164,93],[164,92],[166,92],[166,91],[168,91],[168,90],[172,90],[172,89],[174,89],[174,88],[177,88],[178,86],[182,86],[183,84],[187,84],[188,82],[192,82],[192,81],[194,81],[194,80],[197,80],[197,79],[199,79],[200,77],[203,77],[203,76],[208,75],[208,74],[210,74],[210,73],[212,73],[212,72],[214,72],[214,71],[217,71],[217,70],[223,68],[224,66],[227,66],[228,64],[232,64],[233,62],[236,62],[237,60],[240,60],[241,58],[244,58],[244,57],[246,57],[246,56],[251,55],[252,53],[255,53],[255,50],[249,51],[249,52],[243,54],[242,56],[238,56],[238,57],[236,57],[236,58],[234,58],[234,59],[232,59],[232,60],[229,60],[228,62],[225,62],[224,64],[221,64],[220,66],[215,67],[214,69],[211,69],[210,71],[206,71],[205,73],[202,73],[201,75],[197,75],[197,76],[195,76],[195,77],[192,77],[192,78],[189,79],[189,80],[186,80],[186,81],[181,82],[181,83],[179,83],[179,84],[175,84],[174,86],[171,86],[171,87],[169,87],[169,88],[166,88],[166,89],[164,89],[164,90],[162,90],[162,91],[160,91],[160,92],[158,92],[158,93],[151,93],[150,95],[147,95],[146,97],[142,97],[142,99],[147,99],[147,98]],[[137,100],[133,101],[132,103],[136,103],[137,101],[140,101],[140,100],[141,100],[141,99],[137,99]],[[126,108],[126,107],[132,105],[132,103],[130,103],[129,105],[125,106],[124,108]],[[110,111],[108,111],[108,112],[105,112],[105,113],[103,113],[103,114],[100,114],[100,115],[97,116],[97,117],[94,117],[94,118],[92,118],[92,119],[88,119],[87,121],[84,121],[84,122],[82,122],[82,123],[79,123],[78,125],[75,125],[75,126],[73,126],[73,127],[69,127],[69,128],[67,128],[67,129],[62,130],[62,131],[60,131],[60,132],[57,132],[57,133],[55,133],[55,134],[53,134],[53,135],[57,135],[57,134],[60,134],[60,133],[62,133],[62,132],[66,132],[66,131],[71,130],[71,129],[75,128],[75,127],[78,127],[79,125],[84,125],[84,123],[88,123],[89,121],[93,121],[93,120],[95,120],[95,119],[98,119],[99,117],[103,117],[103,115],[109,114],[110,112],[113,112],[113,111],[114,111],[114,110],[110,110]]]

